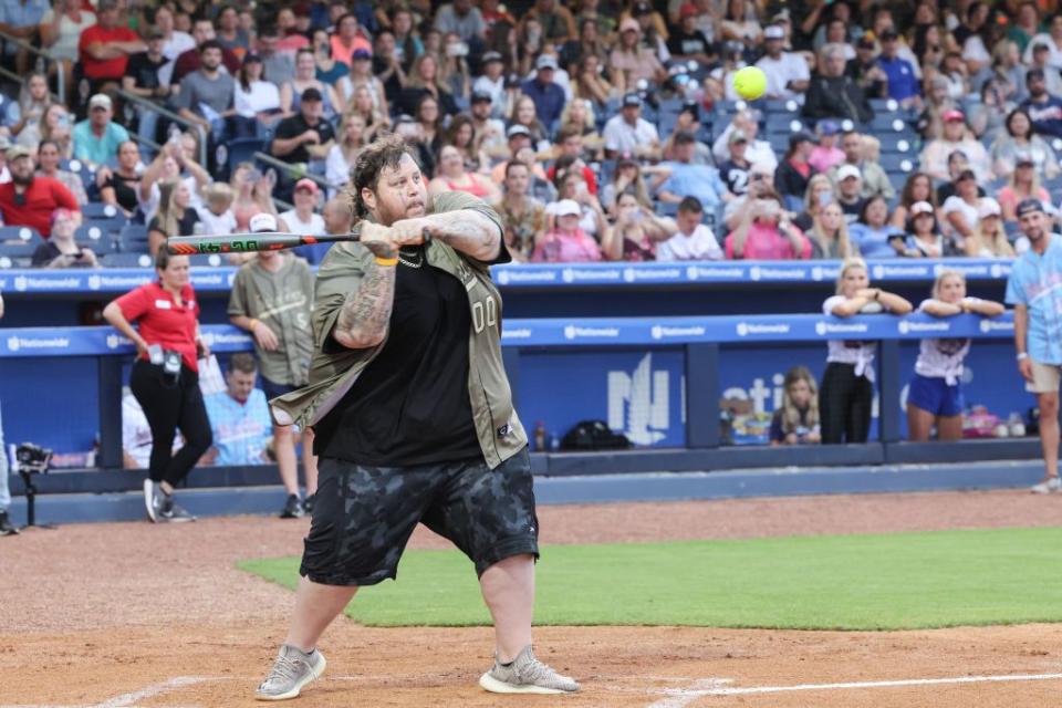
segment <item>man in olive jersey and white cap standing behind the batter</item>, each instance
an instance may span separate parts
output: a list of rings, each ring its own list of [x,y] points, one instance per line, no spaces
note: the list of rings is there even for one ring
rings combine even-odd
[[[271,215],[259,215],[251,229],[275,230],[277,222]],[[229,298],[229,320],[254,339],[254,352],[262,367],[263,400],[291,393],[309,382],[312,305],[313,274],[302,259],[278,251],[259,253],[237,272]],[[313,429],[308,427],[302,434],[305,499],[299,493],[292,427],[273,425],[272,435],[280,479],[288,492],[281,518],[301,517],[313,510],[317,490]]]

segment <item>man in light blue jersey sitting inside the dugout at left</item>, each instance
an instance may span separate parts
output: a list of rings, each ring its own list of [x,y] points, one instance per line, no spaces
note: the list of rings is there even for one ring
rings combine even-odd
[[[229,357],[225,391],[204,399],[214,445],[202,462],[207,465],[264,465],[269,461],[269,404],[261,388],[254,387],[258,365],[247,352]],[[295,497],[298,501],[298,496]],[[292,514],[294,516],[294,514]],[[300,506],[299,514],[302,516]]]

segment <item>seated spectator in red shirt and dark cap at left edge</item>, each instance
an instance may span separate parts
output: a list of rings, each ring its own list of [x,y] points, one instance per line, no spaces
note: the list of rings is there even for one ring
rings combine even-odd
[[[61,181],[33,173],[33,156],[22,145],[9,147],[6,154],[11,181],[0,185],[0,216],[6,226],[28,226],[48,238],[52,232],[52,214],[69,209],[81,223],[81,209],[74,196]]]

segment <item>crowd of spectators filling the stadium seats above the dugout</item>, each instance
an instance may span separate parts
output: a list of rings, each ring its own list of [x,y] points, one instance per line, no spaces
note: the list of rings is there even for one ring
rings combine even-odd
[[[1008,258],[1025,247],[1017,204],[1054,214],[1062,197],[1055,10],[7,0],[0,32],[48,59],[4,43],[25,79],[6,84],[0,146],[37,177],[0,167],[0,216],[48,239],[50,212],[28,211],[110,205],[103,219],[71,209],[100,229],[79,246],[104,266],[259,211],[320,229],[358,148],[395,131],[433,192],[498,206],[520,261]],[[752,64],[767,94],[746,103],[732,75]],[[690,200],[696,248],[677,219]],[[655,216],[631,228],[641,215]]]

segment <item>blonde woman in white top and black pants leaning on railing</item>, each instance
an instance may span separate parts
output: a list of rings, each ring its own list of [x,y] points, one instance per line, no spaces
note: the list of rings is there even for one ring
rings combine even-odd
[[[910,312],[910,303],[899,295],[870,285],[865,261],[858,258],[844,261],[837,274],[837,292],[822,303],[823,313],[851,317],[883,311]],[[830,340],[827,347],[826,371],[819,387],[822,441],[824,445],[866,442],[871,433],[877,343]]]

